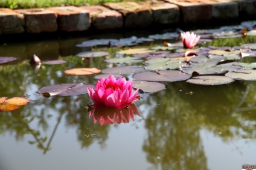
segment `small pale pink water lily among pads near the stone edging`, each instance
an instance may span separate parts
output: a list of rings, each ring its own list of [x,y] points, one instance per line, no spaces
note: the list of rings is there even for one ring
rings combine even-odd
[[[191,49],[200,40],[200,35],[194,34],[194,32],[182,32],[181,33],[182,43],[185,48]]]

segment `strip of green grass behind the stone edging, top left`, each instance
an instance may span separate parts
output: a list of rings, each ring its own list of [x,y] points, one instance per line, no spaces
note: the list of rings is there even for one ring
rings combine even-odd
[[[82,5],[100,5],[105,2],[122,2],[126,0],[1,0],[0,8],[44,8],[60,6],[82,6]],[[132,0],[141,1],[141,0]]]

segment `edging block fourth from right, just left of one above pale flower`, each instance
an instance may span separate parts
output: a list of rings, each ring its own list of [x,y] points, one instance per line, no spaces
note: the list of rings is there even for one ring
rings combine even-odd
[[[164,1],[152,1],[149,7],[152,11],[154,23],[172,24],[180,22],[181,13],[178,5],[165,3]]]

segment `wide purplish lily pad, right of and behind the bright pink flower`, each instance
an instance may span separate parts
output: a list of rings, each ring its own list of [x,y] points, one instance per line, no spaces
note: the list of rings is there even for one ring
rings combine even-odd
[[[144,80],[150,82],[176,82],[187,80],[191,77],[190,74],[182,73],[178,70],[162,70],[153,73],[151,71],[145,71],[135,74],[133,78],[136,80]]]

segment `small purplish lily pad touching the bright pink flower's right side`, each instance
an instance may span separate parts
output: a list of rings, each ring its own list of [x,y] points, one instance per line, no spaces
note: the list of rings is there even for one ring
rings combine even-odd
[[[165,90],[166,86],[158,82],[133,81],[133,88],[144,91],[144,93],[155,93]]]

